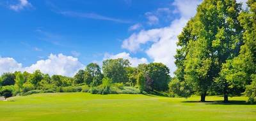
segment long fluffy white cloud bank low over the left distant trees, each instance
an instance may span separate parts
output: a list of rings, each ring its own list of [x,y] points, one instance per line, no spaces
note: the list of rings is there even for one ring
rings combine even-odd
[[[83,68],[84,65],[77,58],[62,53],[58,55],[51,54],[48,59],[38,60],[35,64],[24,68],[22,68],[22,64],[12,58],[0,58],[0,74],[13,71],[33,73],[36,69],[40,69],[42,73],[48,73],[49,75],[74,76],[79,69]]]

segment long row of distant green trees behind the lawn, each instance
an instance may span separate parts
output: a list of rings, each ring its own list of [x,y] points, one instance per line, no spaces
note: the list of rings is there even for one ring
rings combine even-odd
[[[93,89],[103,87],[109,90],[109,83],[139,87],[141,92],[168,90],[169,69],[164,64],[140,64],[136,68],[130,65],[127,59],[108,59],[104,60],[102,70],[98,64],[90,63],[85,69],[79,70],[74,77],[49,76],[40,70],[36,70],[34,73],[26,71],[23,73],[20,71],[4,73],[0,77],[0,95],[7,94],[10,96],[31,90],[52,92],[52,90],[60,89],[60,87],[79,87],[82,85]]]

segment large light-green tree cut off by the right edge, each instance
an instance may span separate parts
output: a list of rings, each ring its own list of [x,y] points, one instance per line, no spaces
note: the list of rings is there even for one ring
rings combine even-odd
[[[237,57],[227,60],[223,64],[218,80],[218,83],[223,87],[224,101],[226,102],[228,101],[228,94],[241,93],[250,83],[255,85],[253,80],[256,76],[256,1],[249,0],[247,3],[250,10],[243,11],[239,15],[239,22],[244,29],[244,45],[241,46]],[[250,101],[253,101],[253,89],[255,89],[253,86],[247,86],[246,94],[251,95],[249,96]]]

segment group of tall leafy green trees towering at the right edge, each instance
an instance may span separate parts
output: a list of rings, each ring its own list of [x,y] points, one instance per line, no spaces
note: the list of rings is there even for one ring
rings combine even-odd
[[[235,0],[204,0],[179,35],[177,70],[170,91],[200,94],[256,94],[256,1],[241,10]]]

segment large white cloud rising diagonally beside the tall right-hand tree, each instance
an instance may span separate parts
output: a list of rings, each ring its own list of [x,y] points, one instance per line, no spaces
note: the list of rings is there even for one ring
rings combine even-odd
[[[122,48],[130,52],[145,50],[145,53],[147,53],[148,57],[153,59],[154,62],[163,62],[163,64],[166,64],[166,66],[170,68],[172,75],[176,69],[174,55],[177,49],[177,36],[182,31],[182,28],[186,25],[189,18],[195,15],[197,4],[200,4],[200,1],[175,0],[173,2],[173,5],[176,7],[175,13],[179,13],[180,18],[173,20],[167,27],[134,32],[129,38],[124,39]],[[170,13],[170,10],[166,8],[158,9],[158,11]],[[141,48],[141,45],[148,42],[152,43],[148,48]]]

